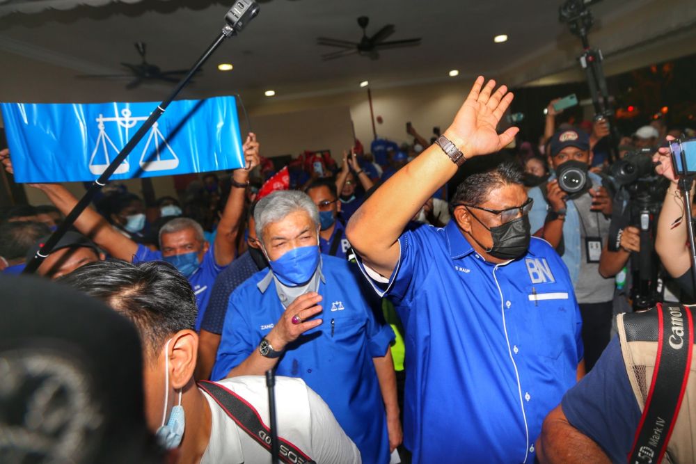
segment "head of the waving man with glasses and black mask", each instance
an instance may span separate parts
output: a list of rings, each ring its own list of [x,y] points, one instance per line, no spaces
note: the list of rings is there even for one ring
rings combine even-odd
[[[531,207],[521,168],[512,162],[468,175],[450,202],[459,230],[490,262],[504,262],[526,253]]]

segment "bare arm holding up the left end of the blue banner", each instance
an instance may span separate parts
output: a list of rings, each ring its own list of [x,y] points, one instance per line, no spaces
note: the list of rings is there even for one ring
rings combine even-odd
[[[0,151],[0,161],[2,161],[8,173],[14,173],[8,150]],[[45,193],[49,200],[56,205],[56,208],[60,209],[61,213],[66,216],[77,205],[77,198],[61,184],[29,185]],[[138,245],[134,241],[120,234],[120,232],[111,227],[111,224],[102,215],[89,207],[82,211],[74,225],[82,234],[90,237],[100,248],[106,250],[106,253],[118,259],[131,261],[138,249]]]

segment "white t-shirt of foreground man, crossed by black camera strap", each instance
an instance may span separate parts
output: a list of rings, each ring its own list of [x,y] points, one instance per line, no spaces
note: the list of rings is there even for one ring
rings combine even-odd
[[[226,378],[220,385],[251,404],[269,424],[268,391],[264,376]],[[360,451],[338,425],[329,406],[301,378],[276,377],[278,436],[316,463],[361,463]],[[203,392],[203,390],[200,390]],[[271,453],[239,429],[206,392],[212,426],[201,464],[270,463]]]

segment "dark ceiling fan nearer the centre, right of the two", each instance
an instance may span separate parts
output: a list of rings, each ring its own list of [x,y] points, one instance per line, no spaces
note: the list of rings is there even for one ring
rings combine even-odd
[[[420,37],[404,40],[390,40],[386,42],[385,40],[395,31],[394,24],[387,24],[382,29],[379,29],[377,33],[372,35],[372,37],[368,37],[367,31],[365,29],[367,28],[367,24],[369,23],[369,17],[358,17],[358,26],[361,26],[361,28],[363,29],[363,38],[361,38],[360,42],[349,42],[348,40],[318,37],[318,45],[342,48],[342,50],[332,51],[331,53],[323,54],[322,60],[333,60],[335,58],[341,58],[342,56],[349,56],[352,54],[361,54],[362,56],[369,56],[373,60],[376,60],[377,58],[379,58],[380,50],[396,47],[413,47],[415,45],[420,45]]]

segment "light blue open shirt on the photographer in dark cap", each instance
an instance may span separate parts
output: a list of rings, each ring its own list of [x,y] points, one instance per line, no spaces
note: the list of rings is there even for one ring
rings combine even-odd
[[[592,179],[592,185],[598,188],[602,184],[602,178],[595,173],[588,172],[588,177]],[[555,175],[551,175],[549,180],[555,179]],[[546,214],[548,213],[548,203],[544,200],[544,195],[541,194],[539,187],[534,187],[527,192],[529,198],[534,200],[532,211],[529,212],[529,223],[532,226],[532,234],[544,227]],[[573,200],[566,202],[566,217],[563,223],[563,262],[568,266],[571,282],[575,285],[578,282],[580,275],[580,264],[582,264],[582,250],[580,250],[580,214]]]

